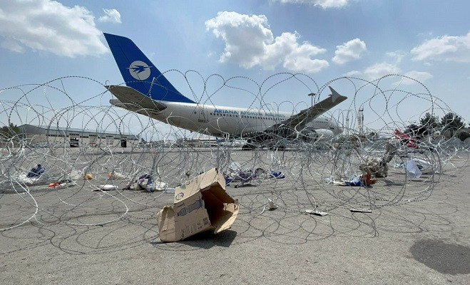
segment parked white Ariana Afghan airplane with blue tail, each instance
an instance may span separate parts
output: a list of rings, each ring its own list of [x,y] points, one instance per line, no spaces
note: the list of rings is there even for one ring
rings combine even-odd
[[[216,138],[246,140],[243,150],[284,149],[288,140],[314,142],[342,133],[335,120],[322,115],[347,99],[330,86],[329,97],[297,114],[201,104],[178,92],[130,38],[104,36],[126,82],[106,86],[116,96],[111,105]]]

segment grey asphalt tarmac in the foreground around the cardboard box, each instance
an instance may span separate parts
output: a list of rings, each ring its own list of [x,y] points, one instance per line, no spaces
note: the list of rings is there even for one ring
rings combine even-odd
[[[169,193],[2,192],[0,284],[470,284],[470,167],[454,162],[432,179],[392,170],[363,192],[313,174],[230,185],[233,227],[172,243],[156,220]],[[315,207],[327,216],[303,213]]]

